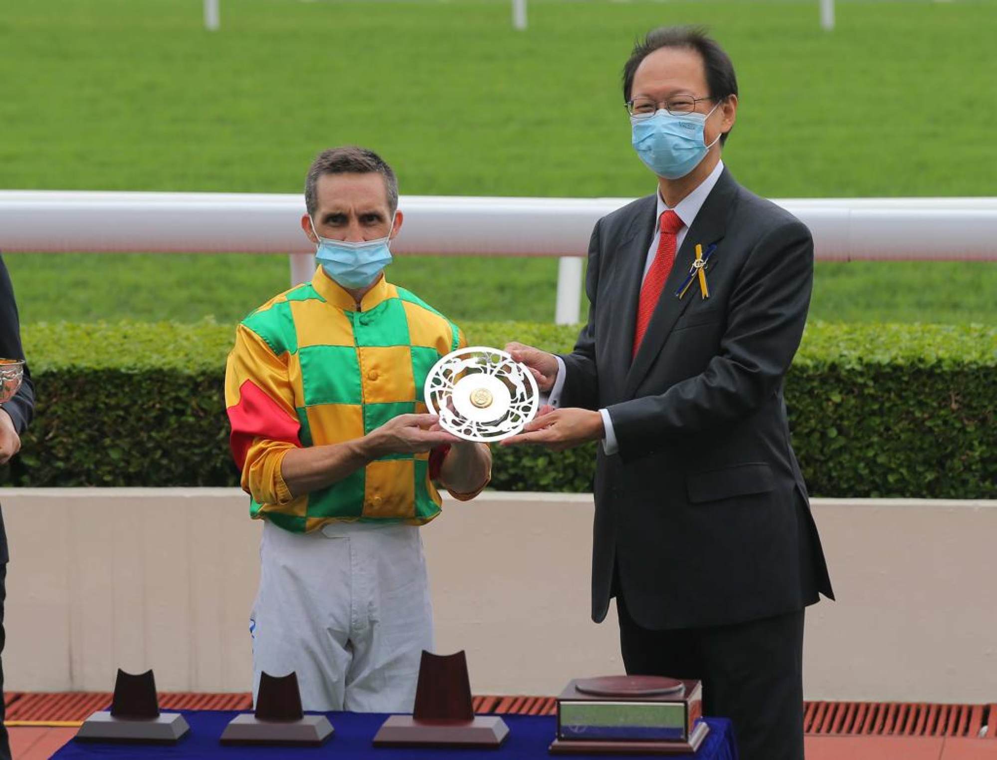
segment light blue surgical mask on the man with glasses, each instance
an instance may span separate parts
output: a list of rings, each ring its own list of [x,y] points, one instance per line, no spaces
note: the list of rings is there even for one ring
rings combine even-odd
[[[717,110],[717,106],[710,114]],[[675,116],[660,109],[650,119],[631,117],[632,142],[637,155],[658,176],[666,179],[684,177],[699,165],[706,151],[720,139],[718,134],[709,145],[704,143],[703,129],[710,114]]]

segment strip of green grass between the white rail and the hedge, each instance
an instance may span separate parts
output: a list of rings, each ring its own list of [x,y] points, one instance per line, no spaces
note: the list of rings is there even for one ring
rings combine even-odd
[[[25,322],[235,322],[288,287],[284,256],[4,257]],[[552,322],[553,259],[405,257],[389,279],[461,322]],[[997,323],[997,264],[818,262],[811,319]],[[584,309],[584,307],[583,307]]]

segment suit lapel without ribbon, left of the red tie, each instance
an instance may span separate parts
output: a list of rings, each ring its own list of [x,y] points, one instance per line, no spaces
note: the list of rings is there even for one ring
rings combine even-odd
[[[654,238],[657,221],[657,194],[641,198],[634,209],[630,226],[616,249],[619,273],[619,298],[612,311],[612,326],[608,334],[613,336],[610,348],[609,367],[612,367],[622,387],[627,368],[633,353],[633,331],[637,323],[637,301],[640,298],[640,284],[647,260],[647,249]],[[615,374],[614,373],[614,374]]]

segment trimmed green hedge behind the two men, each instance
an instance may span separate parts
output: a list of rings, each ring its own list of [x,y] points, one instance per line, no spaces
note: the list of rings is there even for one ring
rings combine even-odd
[[[473,323],[473,344],[568,349],[571,327]],[[233,331],[196,325],[37,324],[38,391],[20,486],[233,485],[221,392]],[[794,446],[820,496],[997,497],[997,330],[808,327],[787,379]],[[502,490],[585,491],[593,447],[495,447]]]

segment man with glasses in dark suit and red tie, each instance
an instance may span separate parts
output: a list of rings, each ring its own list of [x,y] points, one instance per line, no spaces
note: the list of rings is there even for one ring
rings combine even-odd
[[[574,351],[506,347],[556,408],[505,443],[602,441],[592,619],[615,597],[627,672],[702,679],[743,760],[798,760],[804,608],[832,598],[783,398],[813,241],[720,159],[738,91],[716,42],[651,32],[623,92],[658,191],[596,223]]]

